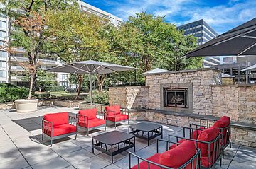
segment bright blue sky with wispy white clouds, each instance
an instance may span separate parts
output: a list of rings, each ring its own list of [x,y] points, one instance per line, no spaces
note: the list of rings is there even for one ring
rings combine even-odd
[[[128,18],[146,11],[182,25],[203,18],[219,34],[256,17],[256,0],[83,0],[87,4]]]

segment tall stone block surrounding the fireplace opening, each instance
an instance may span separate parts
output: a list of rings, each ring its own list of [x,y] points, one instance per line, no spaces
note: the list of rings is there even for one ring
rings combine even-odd
[[[193,112],[199,115],[213,114],[213,96],[210,85],[220,81],[220,71],[217,69],[196,69],[187,71],[172,71],[164,74],[146,76],[146,86],[149,86],[149,109],[161,109],[161,84],[191,83],[193,86]]]

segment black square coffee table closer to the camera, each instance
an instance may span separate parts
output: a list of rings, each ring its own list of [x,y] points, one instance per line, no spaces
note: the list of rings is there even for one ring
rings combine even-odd
[[[135,136],[132,134],[112,131],[92,137],[92,153],[94,153],[94,148],[107,153],[111,156],[112,163],[113,156],[132,147],[135,151]]]

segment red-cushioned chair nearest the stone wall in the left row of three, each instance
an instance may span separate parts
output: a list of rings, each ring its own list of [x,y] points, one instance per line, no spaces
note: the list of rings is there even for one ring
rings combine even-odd
[[[124,113],[119,105],[106,106],[105,119],[107,124],[114,124],[114,128],[120,122],[128,121],[129,124],[129,110]]]

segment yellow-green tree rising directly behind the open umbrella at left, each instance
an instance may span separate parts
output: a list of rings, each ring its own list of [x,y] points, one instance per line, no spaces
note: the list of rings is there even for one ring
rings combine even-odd
[[[58,55],[66,64],[89,59],[100,60],[107,51],[107,40],[102,31],[109,25],[107,19],[94,14],[81,12],[70,6],[65,11],[49,11],[46,14],[48,35],[52,53]],[[83,74],[77,74],[79,98]]]

